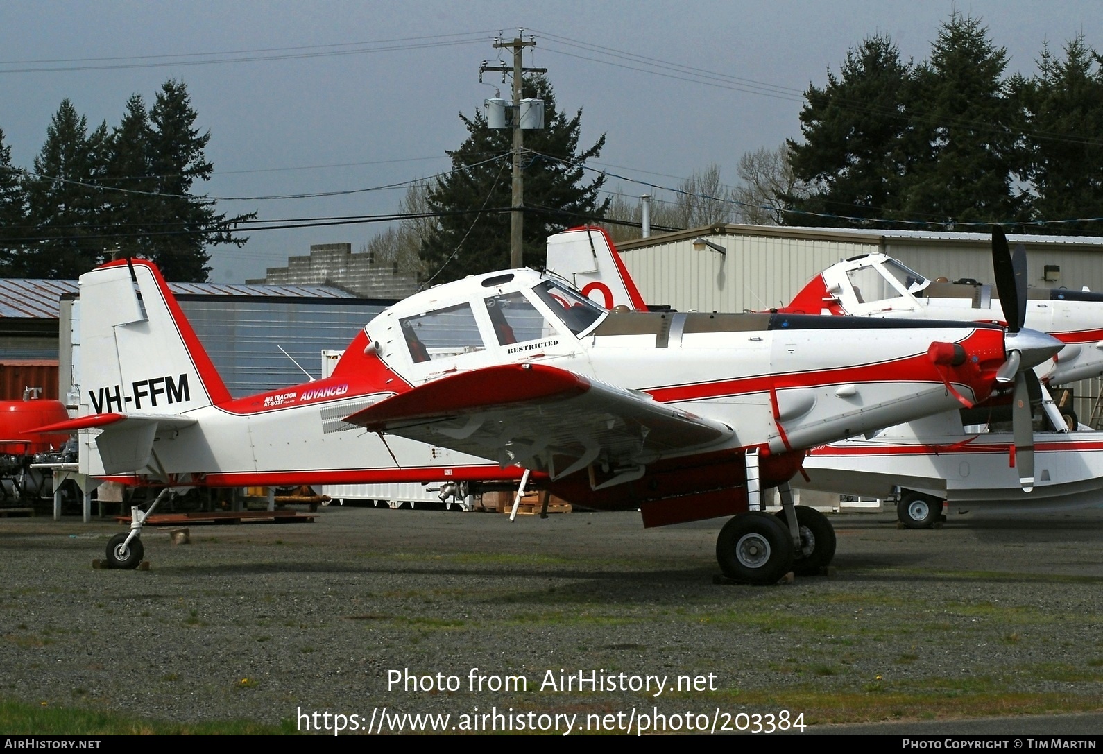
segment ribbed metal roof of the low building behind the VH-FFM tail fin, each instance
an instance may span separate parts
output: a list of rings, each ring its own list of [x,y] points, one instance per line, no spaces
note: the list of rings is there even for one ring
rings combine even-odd
[[[247,295],[297,299],[355,299],[332,286],[253,286],[245,283],[169,283],[176,295]],[[0,317],[56,320],[60,301],[75,295],[76,280],[0,279]]]

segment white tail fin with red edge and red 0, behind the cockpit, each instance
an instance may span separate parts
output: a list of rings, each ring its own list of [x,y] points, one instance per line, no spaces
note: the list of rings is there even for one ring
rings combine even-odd
[[[601,228],[570,228],[548,236],[546,267],[606,309],[624,305],[647,311],[612,239]]]

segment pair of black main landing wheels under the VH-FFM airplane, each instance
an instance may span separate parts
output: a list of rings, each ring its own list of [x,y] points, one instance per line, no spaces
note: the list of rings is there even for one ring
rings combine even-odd
[[[720,529],[716,559],[724,575],[748,584],[772,584],[790,571],[814,575],[835,557],[835,530],[814,508],[793,505],[788,484],[779,487],[782,510],[740,514]]]

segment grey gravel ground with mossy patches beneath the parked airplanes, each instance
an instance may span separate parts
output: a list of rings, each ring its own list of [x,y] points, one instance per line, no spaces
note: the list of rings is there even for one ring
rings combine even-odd
[[[576,726],[657,708],[722,728],[803,705],[824,724],[882,699],[901,701],[871,719],[968,717],[954,700],[976,694],[1103,710],[1103,510],[928,531],[889,518],[832,517],[836,574],[769,588],[713,583],[716,520],[330,507],[314,524],[194,526],[191,545],[148,529],[151,570],[106,571],[90,563],[118,525],[0,519],[0,696],[361,726],[383,707],[450,726],[476,708]],[[388,688],[407,670],[433,688]],[[606,689],[558,688],[580,671]],[[495,688],[505,676],[527,691]],[[665,677],[661,696],[615,688],[646,676]]]

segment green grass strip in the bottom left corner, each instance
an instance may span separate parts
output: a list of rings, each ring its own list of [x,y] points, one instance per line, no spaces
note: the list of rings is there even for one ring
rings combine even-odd
[[[0,700],[0,730],[9,735],[277,735],[295,722],[263,725],[248,720],[171,723],[133,715]]]

